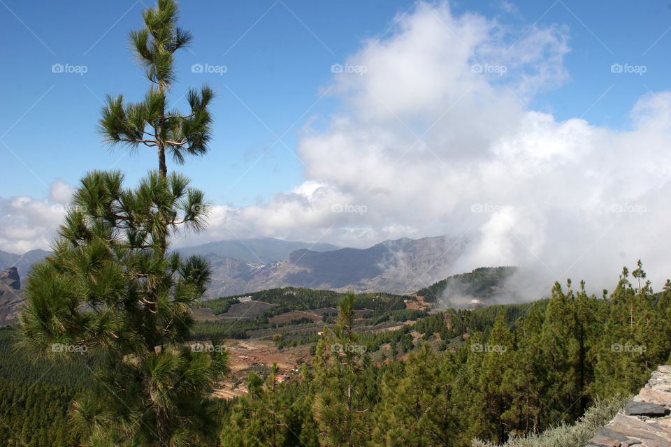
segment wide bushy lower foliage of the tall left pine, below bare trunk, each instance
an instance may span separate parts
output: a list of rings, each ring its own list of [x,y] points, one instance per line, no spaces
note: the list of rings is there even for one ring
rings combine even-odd
[[[150,173],[134,190],[122,184],[117,172],[82,179],[54,254],[27,278],[19,346],[104,360],[98,386],[72,411],[92,445],[205,442],[215,434],[203,427],[216,425],[203,393],[227,372],[226,357],[184,344],[210,273],[203,259],[167,251],[178,227],[201,228],[203,210],[192,204],[202,194],[175,174]]]

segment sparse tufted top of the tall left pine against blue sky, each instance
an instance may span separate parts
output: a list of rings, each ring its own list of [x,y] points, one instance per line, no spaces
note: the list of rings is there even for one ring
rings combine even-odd
[[[157,150],[159,173],[168,175],[166,153],[178,164],[185,156],[208,152],[212,117],[208,105],[214,92],[208,86],[189,89],[189,113],[168,110],[166,95],[175,82],[174,53],[189,45],[192,35],[176,26],[178,5],[174,0],[158,0],[156,8],[143,11],[145,28],[132,31],[131,47],[147,79],[152,82],[143,101],[128,103],[122,95],[107,96],[100,131],[111,147],[127,146],[137,152],[140,145]]]

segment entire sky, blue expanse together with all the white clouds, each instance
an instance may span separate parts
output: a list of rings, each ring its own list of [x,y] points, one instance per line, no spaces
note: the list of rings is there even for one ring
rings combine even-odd
[[[87,170],[132,184],[157,167],[96,133],[106,94],[148,87],[127,34],[149,4],[0,0],[0,249],[48,248]],[[642,258],[669,276],[668,3],[180,6],[194,41],[173,105],[204,82],[218,96],[209,154],[168,162],[215,203],[207,232],[176,244],[448,235],[466,243],[454,272],[533,265],[601,284]]]

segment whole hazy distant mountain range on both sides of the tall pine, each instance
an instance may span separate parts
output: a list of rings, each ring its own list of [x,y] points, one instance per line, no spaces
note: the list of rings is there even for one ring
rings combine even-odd
[[[463,251],[463,241],[445,236],[386,240],[366,249],[338,248],[270,237],[222,240],[178,249],[210,261],[208,298],[297,286],[333,291],[414,293],[445,279]],[[20,278],[48,256],[44,250],[23,255],[0,251],[0,323],[15,314],[21,300]]]

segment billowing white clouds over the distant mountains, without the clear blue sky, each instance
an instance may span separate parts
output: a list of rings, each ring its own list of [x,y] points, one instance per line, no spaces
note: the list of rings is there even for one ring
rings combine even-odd
[[[419,3],[346,61],[365,73],[333,76],[342,109],[328,129],[298,135],[305,182],[264,205],[215,206],[208,232],[180,244],[275,236],[365,247],[447,234],[470,240],[455,272],[526,265],[546,285],[572,277],[598,290],[642,258],[659,286],[671,272],[671,92],[640,98],[628,131],[526,110],[568,79],[568,41],[565,27],[520,35]],[[52,200],[66,195],[52,187]],[[0,247],[45,227],[29,208],[48,203],[20,199],[27,233],[0,233]]]

